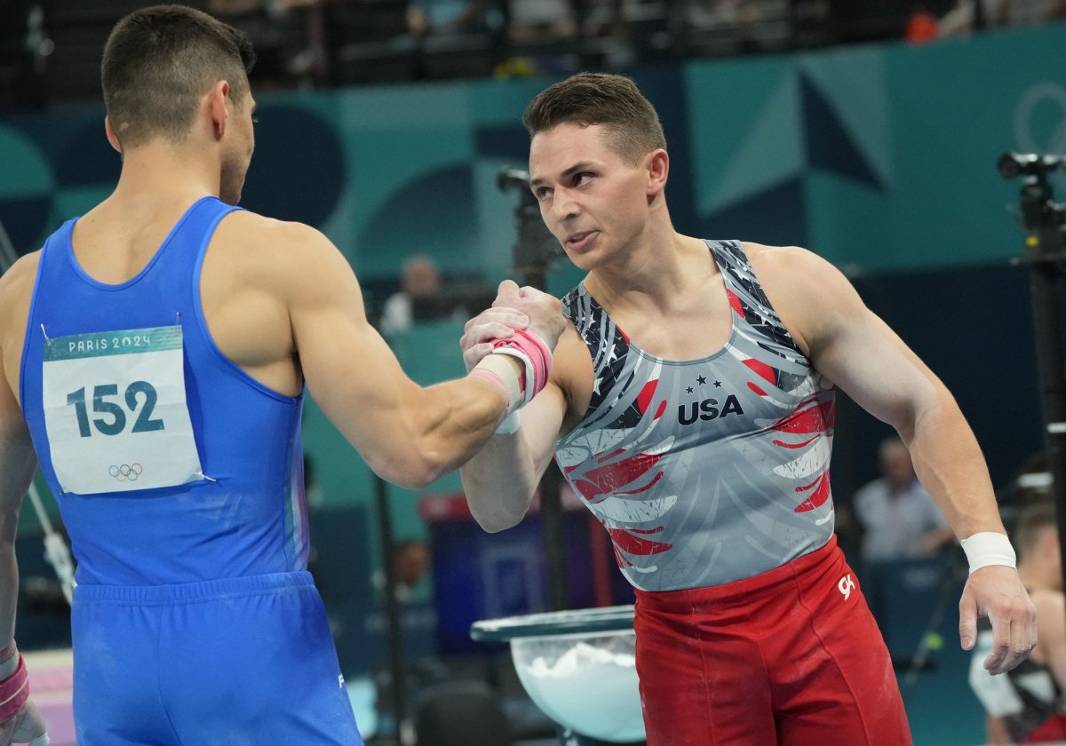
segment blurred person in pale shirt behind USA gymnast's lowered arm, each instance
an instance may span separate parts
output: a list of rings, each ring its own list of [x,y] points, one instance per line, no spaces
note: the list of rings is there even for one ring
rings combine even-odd
[[[915,475],[910,452],[889,438],[878,452],[882,476],[855,493],[855,517],[862,525],[865,563],[930,556],[954,538],[948,520]]]

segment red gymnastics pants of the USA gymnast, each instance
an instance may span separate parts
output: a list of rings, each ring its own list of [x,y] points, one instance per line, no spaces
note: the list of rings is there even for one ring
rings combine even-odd
[[[769,572],[636,591],[648,746],[909,746],[888,650],[836,538]]]

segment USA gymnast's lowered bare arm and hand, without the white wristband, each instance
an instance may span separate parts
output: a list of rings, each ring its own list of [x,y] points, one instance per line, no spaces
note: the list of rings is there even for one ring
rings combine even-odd
[[[794,247],[753,247],[749,256],[815,369],[900,433],[955,535],[1005,534],[976,438],[940,379],[825,260]],[[970,575],[959,603],[965,649],[976,639],[976,617],[986,615],[996,642],[985,665],[1001,674],[1021,662],[1036,639],[1035,612],[1014,569],[990,565]]]

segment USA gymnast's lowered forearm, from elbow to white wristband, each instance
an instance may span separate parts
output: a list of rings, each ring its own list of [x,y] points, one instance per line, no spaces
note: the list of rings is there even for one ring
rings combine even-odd
[[[1006,533],[981,448],[947,390],[900,435],[918,479],[959,539],[983,531]]]

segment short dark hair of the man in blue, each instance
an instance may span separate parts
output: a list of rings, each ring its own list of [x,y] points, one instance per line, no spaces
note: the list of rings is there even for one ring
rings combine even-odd
[[[108,37],[100,65],[103,104],[124,147],[157,135],[181,142],[200,96],[220,80],[242,106],[255,64],[242,32],[192,7],[155,5],[130,13]]]

